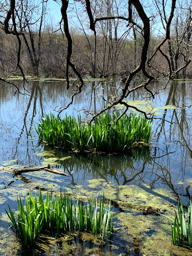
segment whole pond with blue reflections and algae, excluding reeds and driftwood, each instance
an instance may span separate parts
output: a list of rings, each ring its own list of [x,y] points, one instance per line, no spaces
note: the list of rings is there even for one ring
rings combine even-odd
[[[76,195],[100,196],[104,192],[106,198],[159,207],[163,214],[174,216],[178,195],[182,194],[183,204],[188,205],[192,194],[191,81],[153,81],[151,88],[159,90],[153,101],[144,102],[148,95],[142,90],[126,99],[142,110],[153,111],[155,117],[150,148],[140,148],[133,155],[79,154],[40,145],[34,130],[39,117],[50,111],[56,114],[55,110],[66,106],[75,87],[67,91],[64,81],[29,80],[27,91],[23,91],[22,81],[14,82],[23,94],[14,94],[15,87],[0,84],[0,166],[49,163],[69,176],[43,170],[13,176],[0,169],[0,255],[191,255],[190,250],[171,244],[168,220],[162,215],[114,208],[114,226],[124,228],[103,244],[87,233],[51,234],[42,235],[28,251],[8,229],[5,213],[7,203],[16,210],[18,194],[24,199],[29,189],[56,191],[61,187]],[[87,81],[61,116],[80,113],[86,120],[106,106],[121,86],[113,79]]]

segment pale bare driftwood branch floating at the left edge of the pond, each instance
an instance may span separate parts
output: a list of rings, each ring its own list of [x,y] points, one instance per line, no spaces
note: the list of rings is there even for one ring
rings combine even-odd
[[[14,175],[19,175],[21,174],[22,172],[29,172],[29,171],[38,171],[38,170],[46,170],[46,171],[49,171],[49,172],[52,172],[52,173],[55,173],[55,174],[60,174],[60,175],[64,175],[64,176],[69,176],[68,174],[64,173],[64,172],[61,172],[57,169],[53,169],[53,168],[50,168],[50,164],[47,164],[46,166],[42,166],[42,167],[33,167],[33,168],[21,168],[21,169],[12,169],[12,168],[9,168],[9,167],[3,167],[3,166],[0,166],[0,169],[1,170],[4,170],[4,171],[7,171],[7,172],[11,172],[13,173]]]

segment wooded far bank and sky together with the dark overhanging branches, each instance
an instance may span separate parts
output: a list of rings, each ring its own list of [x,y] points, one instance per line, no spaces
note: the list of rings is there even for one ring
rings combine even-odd
[[[77,77],[71,102],[59,113],[81,92],[84,75],[125,81],[118,98],[91,120],[118,103],[124,114],[130,107],[124,98],[139,88],[154,98],[152,79],[191,77],[190,0],[54,0],[61,14],[56,26],[49,2],[0,0],[0,79],[10,83],[9,74],[22,74],[24,85],[25,74],[66,77],[68,89]],[[134,87],[135,77],[141,79]]]

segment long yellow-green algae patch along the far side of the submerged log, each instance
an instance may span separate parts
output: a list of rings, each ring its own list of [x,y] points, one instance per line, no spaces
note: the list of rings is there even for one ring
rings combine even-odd
[[[117,185],[106,182],[104,179],[88,180],[87,188],[82,185],[76,185],[73,188],[67,188],[67,191],[74,194],[80,194],[91,197],[102,195],[108,199],[130,202],[132,205],[146,205],[168,210],[172,203],[177,203],[176,196],[172,191],[165,188],[150,189],[146,184],[137,185]]]

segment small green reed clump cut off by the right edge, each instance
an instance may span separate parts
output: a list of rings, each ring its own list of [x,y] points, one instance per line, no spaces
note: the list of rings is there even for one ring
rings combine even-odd
[[[188,207],[188,214],[185,214],[182,200],[178,199],[178,212],[175,211],[175,218],[169,218],[173,221],[170,224],[172,231],[172,242],[175,245],[182,247],[192,247],[192,203],[190,200],[190,206]],[[170,222],[170,221],[169,221]]]

